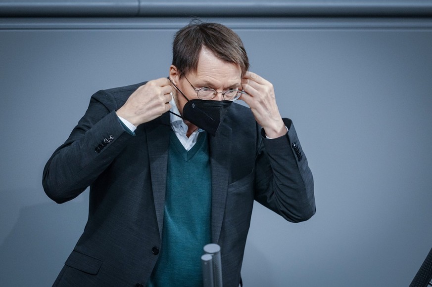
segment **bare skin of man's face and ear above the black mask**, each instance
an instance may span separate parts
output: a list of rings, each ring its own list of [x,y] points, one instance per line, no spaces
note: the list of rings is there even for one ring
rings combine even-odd
[[[196,91],[191,84],[196,88],[208,87],[217,92],[224,92],[229,89],[240,88],[241,69],[240,66],[234,63],[229,63],[217,58],[213,52],[206,48],[202,48],[198,57],[198,66],[196,72],[192,72],[180,79],[180,75],[175,66],[170,67],[170,78],[177,87],[188,97],[188,99],[197,99]],[[181,114],[183,114],[183,106],[187,99],[180,92],[174,91],[174,100]],[[223,100],[222,94],[218,93],[213,100]]]

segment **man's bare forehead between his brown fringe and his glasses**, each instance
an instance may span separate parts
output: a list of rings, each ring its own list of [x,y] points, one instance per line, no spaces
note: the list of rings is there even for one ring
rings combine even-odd
[[[241,69],[238,64],[216,57],[203,47],[199,53],[196,71],[190,75],[195,84],[213,84],[217,87],[240,84]],[[188,79],[190,77],[188,75]]]

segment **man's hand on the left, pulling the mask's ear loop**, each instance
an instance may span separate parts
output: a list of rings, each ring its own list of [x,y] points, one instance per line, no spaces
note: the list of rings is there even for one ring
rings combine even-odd
[[[117,110],[117,116],[135,126],[150,122],[171,109],[171,82],[167,78],[152,80],[133,92]]]

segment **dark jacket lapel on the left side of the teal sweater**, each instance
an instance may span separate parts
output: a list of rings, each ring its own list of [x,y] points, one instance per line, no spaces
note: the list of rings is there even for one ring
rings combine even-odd
[[[156,209],[159,235],[162,238],[163,213],[166,191],[166,173],[170,135],[169,113],[145,124],[150,161],[151,186]]]

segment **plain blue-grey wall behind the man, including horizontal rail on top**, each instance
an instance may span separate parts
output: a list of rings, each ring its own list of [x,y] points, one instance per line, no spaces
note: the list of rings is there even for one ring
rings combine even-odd
[[[1,286],[52,284],[84,229],[88,191],[51,202],[43,167],[98,89],[168,75],[173,34],[190,19],[176,16],[187,10],[240,35],[314,174],[309,221],[288,223],[254,206],[245,286],[410,284],[432,247],[428,1],[117,1],[117,9],[105,1],[77,12],[64,2],[54,4],[67,18],[0,2]],[[230,5],[243,5],[236,13],[245,17],[221,17]],[[100,9],[119,17],[99,17]]]

